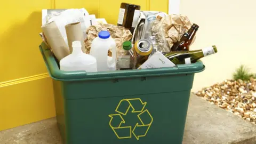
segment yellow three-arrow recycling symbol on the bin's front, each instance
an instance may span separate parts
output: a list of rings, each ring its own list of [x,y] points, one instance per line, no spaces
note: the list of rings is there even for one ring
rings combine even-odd
[[[136,104],[136,105],[135,105]],[[147,105],[147,102],[142,102],[141,99],[123,99],[119,102],[118,106],[116,107],[116,112],[118,114],[111,114],[108,115],[110,117],[109,125],[111,129],[115,132],[116,137],[118,139],[126,139],[126,138],[132,138],[132,133],[134,137],[139,140],[140,137],[145,137],[147,135],[147,132],[153,122],[153,117],[149,113],[149,111],[146,109],[144,110],[145,106]],[[126,110],[122,110],[121,108],[126,108]],[[137,123],[133,128],[132,126],[122,126],[122,124],[125,124],[124,118],[129,109],[132,108],[132,113],[138,113],[138,118],[141,122],[141,124]],[[149,117],[149,121],[142,121],[141,115],[146,115]],[[118,120],[118,124],[114,124],[114,120]],[[120,121],[120,122],[119,122]],[[129,133],[129,135],[123,135],[124,133]]]

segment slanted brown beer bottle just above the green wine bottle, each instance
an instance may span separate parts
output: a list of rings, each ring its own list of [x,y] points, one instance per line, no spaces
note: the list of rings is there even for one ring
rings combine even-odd
[[[193,38],[195,37],[198,28],[199,26],[194,23],[188,30],[188,32],[182,35],[180,41],[174,43],[174,45],[171,48],[171,51],[189,51],[189,46],[193,41]]]

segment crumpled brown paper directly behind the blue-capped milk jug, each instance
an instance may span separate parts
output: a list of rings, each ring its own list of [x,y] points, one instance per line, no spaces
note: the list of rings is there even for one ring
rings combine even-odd
[[[86,31],[87,38],[84,41],[86,53],[90,53],[92,41],[95,37],[98,36],[101,30],[109,31],[110,36],[115,39],[117,49],[122,49],[123,42],[129,41],[132,38],[131,31],[125,29],[124,27],[99,23],[99,25],[90,26]],[[111,50],[109,51],[108,55],[112,55]]]

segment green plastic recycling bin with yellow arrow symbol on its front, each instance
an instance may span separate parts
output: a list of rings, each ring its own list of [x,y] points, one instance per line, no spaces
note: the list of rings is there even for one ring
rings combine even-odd
[[[202,61],[170,68],[97,73],[61,71],[39,46],[53,79],[63,143],[182,143],[194,74]]]

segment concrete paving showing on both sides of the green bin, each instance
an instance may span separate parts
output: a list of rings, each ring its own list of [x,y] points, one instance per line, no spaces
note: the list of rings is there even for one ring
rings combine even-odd
[[[0,132],[0,144],[17,143],[61,144],[55,118]],[[256,126],[192,94],[183,143],[255,144]]]

